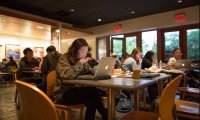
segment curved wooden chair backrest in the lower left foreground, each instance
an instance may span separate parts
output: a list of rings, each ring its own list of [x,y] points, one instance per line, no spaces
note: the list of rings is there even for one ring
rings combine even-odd
[[[45,93],[19,80],[16,86],[20,95],[20,120],[58,120],[55,105]]]

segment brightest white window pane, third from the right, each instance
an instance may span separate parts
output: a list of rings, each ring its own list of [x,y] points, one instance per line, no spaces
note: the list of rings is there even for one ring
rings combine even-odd
[[[147,51],[153,50],[155,58],[157,58],[157,31],[142,32],[142,54],[143,56]]]

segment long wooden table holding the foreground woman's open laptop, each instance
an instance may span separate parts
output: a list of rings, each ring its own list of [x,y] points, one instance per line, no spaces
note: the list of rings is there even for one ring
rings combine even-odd
[[[108,116],[109,120],[115,118],[115,90],[129,90],[134,92],[134,109],[139,110],[139,90],[158,83],[162,91],[163,81],[171,79],[171,75],[161,74],[155,78],[112,78],[109,80],[63,80],[63,84],[76,84],[84,86],[101,87],[108,89]]]

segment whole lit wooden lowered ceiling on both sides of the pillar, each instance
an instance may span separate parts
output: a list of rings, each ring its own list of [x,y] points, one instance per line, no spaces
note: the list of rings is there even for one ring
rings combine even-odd
[[[55,26],[0,14],[1,35],[11,35],[40,40],[51,40],[51,29],[55,29]],[[62,28],[61,31],[61,39],[84,37],[88,34],[91,34],[89,32],[85,33],[81,30],[76,30],[75,28]]]

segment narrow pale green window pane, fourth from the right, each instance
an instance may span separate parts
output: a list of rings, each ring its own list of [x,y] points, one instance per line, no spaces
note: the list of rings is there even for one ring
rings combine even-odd
[[[133,49],[136,48],[136,36],[126,37],[126,52],[131,54]]]

